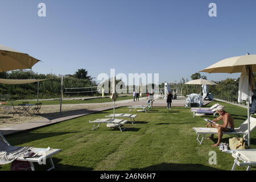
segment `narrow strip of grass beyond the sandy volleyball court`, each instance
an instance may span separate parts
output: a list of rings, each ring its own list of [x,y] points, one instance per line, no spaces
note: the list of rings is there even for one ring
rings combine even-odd
[[[127,96],[127,97],[118,97],[117,101],[123,101],[123,100],[129,100],[132,99],[133,96]],[[15,106],[18,104],[22,104],[23,101],[9,101],[9,104],[11,105],[11,102],[14,103]],[[29,102],[30,104],[36,104],[37,101],[24,101]],[[42,102],[43,105],[59,105],[60,101],[39,101]],[[112,102],[110,98],[93,98],[90,100],[63,100],[62,104],[89,104],[89,103],[104,103],[104,102]]]

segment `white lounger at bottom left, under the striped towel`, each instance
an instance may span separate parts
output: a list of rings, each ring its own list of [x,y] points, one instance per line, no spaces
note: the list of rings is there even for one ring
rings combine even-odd
[[[1,133],[0,133],[0,138],[3,140],[3,142],[5,142],[9,146],[11,146],[10,143],[6,140],[5,137],[3,137],[3,135]],[[53,149],[53,148],[34,148],[33,147],[33,148],[31,148],[31,151],[33,151],[35,153],[38,153],[38,154],[35,155],[32,158],[22,158],[22,157],[19,157],[19,158],[15,159],[15,160],[29,162],[30,166],[31,166],[31,170],[35,171],[34,163],[43,164],[44,159],[45,159],[45,161],[46,161],[46,159],[49,159],[50,163],[51,163],[51,167],[49,169],[47,169],[47,171],[50,171],[51,169],[55,168],[55,166],[53,164],[53,161],[52,161],[52,156],[57,154],[57,153],[59,153],[61,150],[60,149]]]

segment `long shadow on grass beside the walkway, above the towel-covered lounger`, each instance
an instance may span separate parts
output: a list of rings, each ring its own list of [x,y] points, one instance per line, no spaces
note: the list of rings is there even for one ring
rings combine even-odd
[[[35,140],[40,140],[40,139],[46,139],[46,138],[51,138],[51,137],[56,137],[60,135],[65,135],[65,134],[75,134],[75,133],[80,133],[80,131],[73,131],[73,132],[51,132],[51,133],[41,133],[41,132],[36,132],[36,133],[21,133],[21,134],[14,134],[7,136],[6,139],[9,141],[9,143],[13,146],[16,146],[18,144],[22,143],[27,143],[27,142],[32,142]]]

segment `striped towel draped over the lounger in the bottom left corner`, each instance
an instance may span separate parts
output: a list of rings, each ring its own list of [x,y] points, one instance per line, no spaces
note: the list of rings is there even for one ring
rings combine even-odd
[[[0,165],[13,162],[26,154],[32,147],[14,147],[0,140]]]

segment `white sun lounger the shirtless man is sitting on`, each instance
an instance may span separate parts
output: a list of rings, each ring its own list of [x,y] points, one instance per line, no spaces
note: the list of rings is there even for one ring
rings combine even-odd
[[[252,131],[256,127],[256,118],[250,117],[250,131]],[[247,128],[248,128],[248,121],[246,119],[245,122],[243,122],[240,127],[236,128],[234,132],[224,132],[223,134],[229,134],[229,135],[243,135],[243,138],[246,137],[247,133]],[[196,140],[202,144],[205,135],[209,134],[218,134],[218,129],[216,128],[210,128],[210,127],[193,127],[193,130],[196,131],[197,138]],[[201,140],[199,139],[200,136],[202,136]]]

